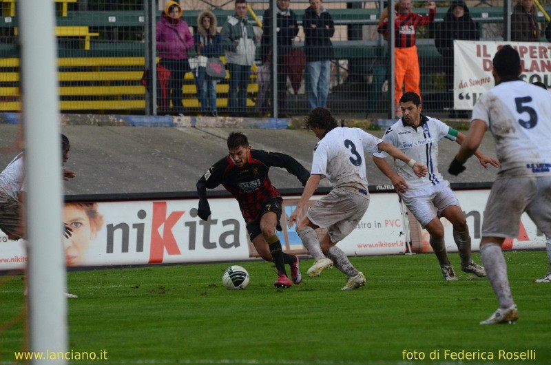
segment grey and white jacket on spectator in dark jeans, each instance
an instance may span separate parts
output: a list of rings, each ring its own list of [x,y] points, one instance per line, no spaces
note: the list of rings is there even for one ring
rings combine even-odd
[[[226,62],[250,66],[256,55],[256,35],[253,24],[247,17],[228,17],[222,27],[222,45],[226,53]]]

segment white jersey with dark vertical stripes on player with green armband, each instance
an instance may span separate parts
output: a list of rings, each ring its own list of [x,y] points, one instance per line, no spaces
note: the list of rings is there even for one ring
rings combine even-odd
[[[402,160],[394,160],[397,174],[406,180],[411,190],[426,189],[444,181],[438,171],[438,141],[442,138],[457,139],[457,131],[438,119],[422,114],[420,118],[421,122],[417,128],[407,125],[400,119],[386,129],[382,138],[386,143],[401,149],[410,158],[428,168],[428,174],[419,178],[407,163]],[[373,155],[380,158],[388,157],[386,152],[378,152]]]

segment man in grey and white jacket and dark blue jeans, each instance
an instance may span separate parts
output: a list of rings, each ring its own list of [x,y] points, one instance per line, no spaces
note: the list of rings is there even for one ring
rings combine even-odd
[[[256,54],[253,24],[247,19],[247,0],[236,0],[236,13],[222,27],[222,45],[229,69],[228,107],[231,116],[247,114],[247,87]]]

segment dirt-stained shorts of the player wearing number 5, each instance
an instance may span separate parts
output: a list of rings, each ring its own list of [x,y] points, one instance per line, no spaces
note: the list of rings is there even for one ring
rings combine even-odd
[[[486,202],[483,237],[516,238],[523,212],[551,237],[551,176],[521,176],[495,180]]]

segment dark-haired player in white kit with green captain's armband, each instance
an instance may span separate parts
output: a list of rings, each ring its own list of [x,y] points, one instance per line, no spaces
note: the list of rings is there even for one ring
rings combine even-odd
[[[417,218],[421,227],[428,231],[430,247],[438,259],[444,280],[456,281],[457,276],[448,259],[444,244],[444,226],[440,222],[440,217],[446,218],[453,225],[453,238],[461,258],[461,271],[479,277],[486,276],[484,267],[470,258],[470,235],[465,213],[459,206],[459,200],[453,194],[450,183],[444,180],[438,171],[438,141],[448,138],[461,144],[465,135],[438,119],[421,114],[421,98],[415,92],[406,92],[400,98],[400,107],[404,117],[391,125],[382,139],[426,163],[429,168],[428,175],[424,178],[413,175],[401,161],[395,161],[394,171],[384,159],[388,156],[384,152],[373,155],[375,165],[391,179],[406,207]],[[494,167],[499,166],[495,158],[485,156],[479,151],[476,152],[476,156],[486,169],[488,163]],[[409,186],[408,191],[404,189],[404,183]]]

